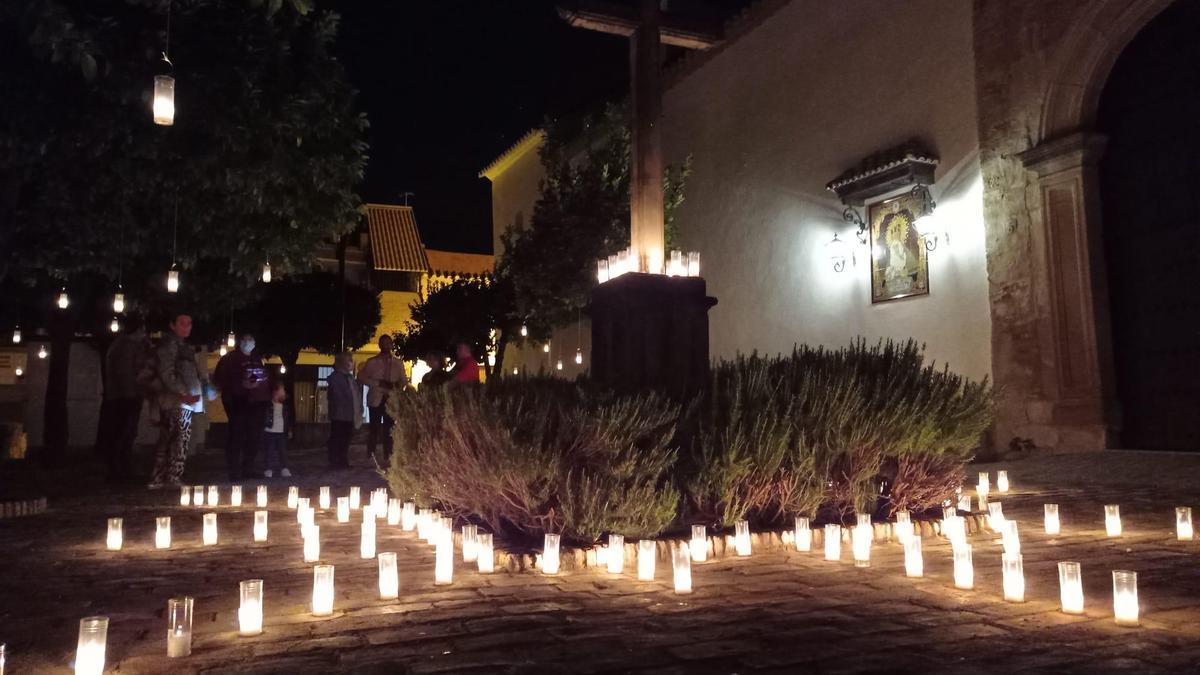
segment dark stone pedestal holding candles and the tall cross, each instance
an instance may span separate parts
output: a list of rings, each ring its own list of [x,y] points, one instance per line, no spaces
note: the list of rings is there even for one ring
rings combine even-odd
[[[708,376],[703,279],[623,274],[592,292],[592,376],[619,390],[684,396]]]

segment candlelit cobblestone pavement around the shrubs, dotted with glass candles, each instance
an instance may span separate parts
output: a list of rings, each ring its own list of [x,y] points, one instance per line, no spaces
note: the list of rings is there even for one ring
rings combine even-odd
[[[1138,467],[1128,482],[1115,476],[1122,466]],[[284,504],[287,483],[276,479],[264,544],[251,543],[253,507],[220,506],[220,543],[202,546],[209,509],[178,506],[178,491],[55,500],[43,515],[0,522],[0,641],[8,673],[67,671],[78,620],[92,614],[110,617],[116,673],[1195,671],[1200,542],[1174,539],[1174,507],[1200,507],[1188,489],[1200,456],[1103,453],[1007,468],[1014,490],[1000,500],[1021,526],[1020,604],[1001,597],[991,534],[972,536],[971,591],[954,589],[949,546],[938,539],[926,540],[920,579],[904,575],[898,544],[876,544],[870,568],[800,552],[698,563],[696,592],[676,596],[661,562],[654,583],[635,580],[628,565],[619,577],[547,578],[480,575],[460,562],[454,585],[434,587],[432,548],[380,525],[378,550],[397,551],[401,565],[401,597],[388,602],[377,598],[374,561],[358,557],[359,519],[338,525],[325,513],[318,524],[323,560],[336,566],[336,603],[334,616],[318,619],[308,613],[312,567]],[[1091,480],[1098,473],[1104,479]],[[382,484],[365,470],[294,482],[313,497],[323,483],[335,492]],[[1058,537],[1042,533],[1048,501],[1061,504]],[[1121,504],[1118,539],[1104,536],[1104,503]],[[115,515],[125,518],[126,543],[110,552],[104,519]],[[152,548],[156,515],[173,516],[169,551]],[[1058,611],[1061,560],[1082,562],[1082,616]],[[1139,573],[1141,627],[1114,623],[1112,569]],[[250,578],[264,579],[265,628],[241,638],[238,581]],[[179,595],[196,598],[194,651],[167,659],[166,604]]]

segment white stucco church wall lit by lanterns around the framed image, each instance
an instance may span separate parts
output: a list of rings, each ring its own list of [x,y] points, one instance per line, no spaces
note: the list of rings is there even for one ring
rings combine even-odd
[[[692,155],[679,222],[719,300],[714,357],[911,336],[961,374],[991,371],[970,1],[793,0],[676,76],[662,130],[668,161]],[[829,263],[834,232],[854,237],[824,185],[910,138],[941,157],[950,245],[930,253],[929,295],[872,306],[866,247],[840,274]]]

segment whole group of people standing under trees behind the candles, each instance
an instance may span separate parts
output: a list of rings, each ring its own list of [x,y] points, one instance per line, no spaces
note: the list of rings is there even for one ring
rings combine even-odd
[[[151,422],[158,428],[150,488],[179,485],[191,442],[192,416],[204,412],[204,402],[217,395],[229,420],[226,442],[229,480],[290,477],[287,448],[294,429],[292,407],[286,405],[284,383],[268,372],[254,336],[240,336],[236,348],[217,362],[210,382],[197,364],[196,351],[187,344],[191,333],[192,317],[176,312],[157,346],[151,347],[144,327],[136,319],[127,322],[125,333],[109,346],[96,440],[97,448],[106,454],[109,479],[122,482],[133,477],[131,455],[145,399],[150,402]],[[479,363],[466,344],[457,345],[451,370],[436,354],[427,356],[426,363],[431,370],[421,380],[422,387],[479,382]],[[379,339],[379,353],[367,359],[356,376],[353,356],[337,354],[326,383],[330,468],[349,467],[350,437],[364,422],[364,387],[367,454],[378,466],[376,449],[382,444],[383,460],[389,461],[395,420],[388,413],[388,401],[410,389],[392,339],[388,335]],[[265,468],[258,472],[260,449],[265,450]]]

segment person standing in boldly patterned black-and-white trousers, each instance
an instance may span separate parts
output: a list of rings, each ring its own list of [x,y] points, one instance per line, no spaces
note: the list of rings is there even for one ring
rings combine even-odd
[[[154,392],[158,418],[158,442],[155,446],[150,489],[179,485],[192,440],[192,414],[204,412],[202,394],[211,388],[204,380],[196,352],[187,344],[192,317],[175,312],[169,330],[158,341],[152,359],[152,376],[145,378]]]

